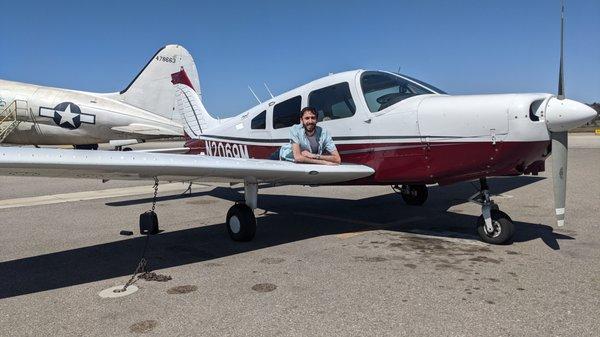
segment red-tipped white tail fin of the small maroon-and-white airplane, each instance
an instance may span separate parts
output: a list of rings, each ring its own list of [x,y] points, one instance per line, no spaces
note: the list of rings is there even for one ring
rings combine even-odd
[[[186,137],[198,139],[202,133],[219,125],[219,120],[206,111],[185,69],[171,74],[171,83],[176,90],[175,112],[181,116]]]

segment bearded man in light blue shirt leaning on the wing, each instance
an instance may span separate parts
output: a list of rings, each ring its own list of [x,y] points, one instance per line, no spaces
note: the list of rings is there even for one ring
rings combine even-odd
[[[281,147],[280,158],[296,163],[338,165],[342,161],[327,130],[317,126],[317,111],[306,107],[300,124],[290,129],[290,143]]]

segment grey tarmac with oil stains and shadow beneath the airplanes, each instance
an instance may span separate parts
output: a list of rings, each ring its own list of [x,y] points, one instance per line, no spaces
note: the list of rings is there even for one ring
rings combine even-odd
[[[470,183],[421,207],[389,186],[261,189],[248,243],[223,224],[240,189],[165,184],[147,258],[172,279],[121,298],[98,293],[138,264],[152,182],[0,177],[0,335],[597,336],[600,137],[577,137],[564,228],[550,160],[490,179],[516,223],[503,246],[476,236]]]

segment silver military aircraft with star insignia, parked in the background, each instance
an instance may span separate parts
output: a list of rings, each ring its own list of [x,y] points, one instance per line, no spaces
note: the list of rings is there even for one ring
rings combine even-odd
[[[122,91],[91,93],[0,80],[0,142],[121,148],[145,140],[183,136],[174,112],[170,75],[185,69],[200,93],[194,59],[179,45],[159,49]]]

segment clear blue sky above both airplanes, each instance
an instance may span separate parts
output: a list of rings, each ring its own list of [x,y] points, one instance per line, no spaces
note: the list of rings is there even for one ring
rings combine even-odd
[[[558,0],[5,1],[0,78],[123,89],[161,46],[196,60],[207,109],[232,116],[307,81],[357,68],[449,93],[556,92]],[[600,1],[569,0],[567,97],[600,101]]]

